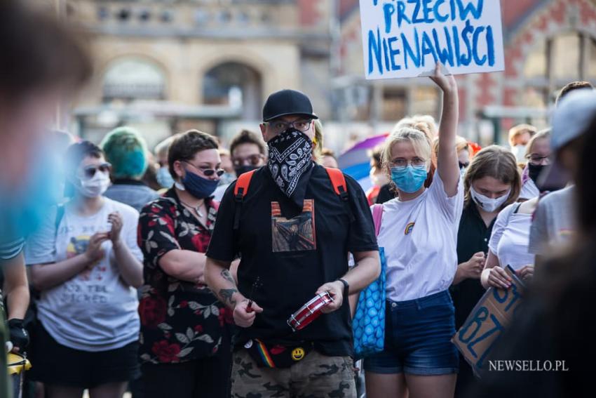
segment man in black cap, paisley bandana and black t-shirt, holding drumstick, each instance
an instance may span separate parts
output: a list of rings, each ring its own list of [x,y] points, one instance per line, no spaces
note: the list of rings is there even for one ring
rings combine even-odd
[[[233,397],[355,397],[347,296],[378,277],[377,239],[358,183],[343,176],[338,190],[313,162],[313,119],[306,95],[271,94],[261,124],[269,161],[219,207],[205,279],[240,326]],[[349,271],[348,253],[357,265]],[[333,301],[323,315],[292,331],[290,315],[325,291]]]

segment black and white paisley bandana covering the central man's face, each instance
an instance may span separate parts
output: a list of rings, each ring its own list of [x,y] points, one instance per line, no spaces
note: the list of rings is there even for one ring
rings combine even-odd
[[[306,185],[313,165],[313,142],[302,131],[289,128],[267,142],[269,171],[276,185],[299,208],[304,204]]]

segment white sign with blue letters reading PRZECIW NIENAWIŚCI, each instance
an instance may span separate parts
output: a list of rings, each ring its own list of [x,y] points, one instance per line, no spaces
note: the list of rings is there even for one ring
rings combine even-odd
[[[499,0],[360,0],[367,79],[505,69]]]

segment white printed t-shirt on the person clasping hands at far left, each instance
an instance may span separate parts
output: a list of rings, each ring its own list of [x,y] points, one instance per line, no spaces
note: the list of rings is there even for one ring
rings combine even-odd
[[[81,217],[67,205],[57,230],[56,208],[49,211],[40,230],[27,242],[27,263],[60,262],[84,253],[95,232],[111,230],[108,215],[116,211],[123,219],[123,242],[142,261],[137,246],[139,213],[104,197],[104,206],[90,216]],[[69,281],[43,291],[37,301],[43,327],[58,343],[75,350],[114,350],[139,338],[137,291],[121,279],[111,241],[105,241],[102,248],[102,260]]]

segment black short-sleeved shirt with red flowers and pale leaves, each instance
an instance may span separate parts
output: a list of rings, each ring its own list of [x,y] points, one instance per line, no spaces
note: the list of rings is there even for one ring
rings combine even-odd
[[[231,313],[204,284],[165,274],[158,265],[170,250],[205,253],[218,204],[208,199],[207,225],[184,208],[172,188],[144,206],[139,219],[139,246],[144,254],[145,284],[140,289],[140,359],[164,364],[212,356],[222,344]]]

